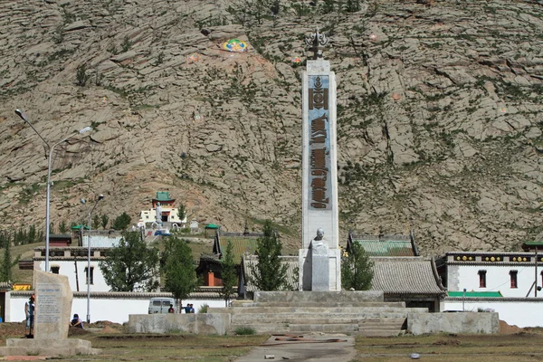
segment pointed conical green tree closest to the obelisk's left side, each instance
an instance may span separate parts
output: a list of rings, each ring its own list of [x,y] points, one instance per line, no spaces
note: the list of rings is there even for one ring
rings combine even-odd
[[[271,221],[264,223],[264,236],[258,238],[256,254],[258,264],[252,270],[252,282],[259,291],[281,291],[290,289],[287,281],[287,265],[281,263],[282,244],[271,227]]]

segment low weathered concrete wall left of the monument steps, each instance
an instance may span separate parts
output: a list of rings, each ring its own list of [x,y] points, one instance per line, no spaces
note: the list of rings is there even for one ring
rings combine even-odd
[[[172,333],[224,335],[230,329],[229,313],[131,314],[129,333]]]

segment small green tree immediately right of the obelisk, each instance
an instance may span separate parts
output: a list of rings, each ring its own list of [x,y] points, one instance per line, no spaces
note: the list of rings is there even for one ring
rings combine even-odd
[[[345,290],[369,291],[373,280],[374,262],[369,259],[360,243],[353,243],[348,256],[341,261],[341,284]]]

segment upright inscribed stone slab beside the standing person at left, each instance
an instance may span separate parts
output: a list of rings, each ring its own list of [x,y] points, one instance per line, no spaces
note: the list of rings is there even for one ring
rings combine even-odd
[[[72,293],[68,277],[34,271],[35,339],[68,338]]]

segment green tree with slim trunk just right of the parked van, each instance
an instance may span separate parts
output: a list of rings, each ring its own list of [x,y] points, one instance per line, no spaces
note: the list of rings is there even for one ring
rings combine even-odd
[[[186,300],[197,285],[195,264],[192,250],[183,239],[169,238],[166,244],[166,265],[164,285],[171,291],[177,301],[177,310],[181,308],[182,300]]]

